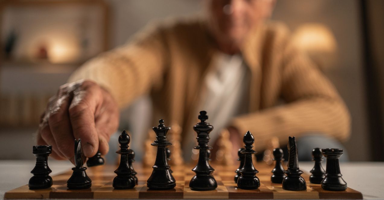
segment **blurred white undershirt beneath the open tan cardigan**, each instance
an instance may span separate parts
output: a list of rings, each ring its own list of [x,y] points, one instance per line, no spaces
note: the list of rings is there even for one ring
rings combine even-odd
[[[218,138],[220,130],[226,128],[233,117],[245,113],[248,108],[248,71],[242,56],[220,53],[215,60],[214,70],[204,80],[206,92],[202,94],[197,110],[192,113],[197,118],[200,111],[208,112],[207,122],[214,126],[210,133],[210,146]],[[192,129],[194,125],[188,129],[182,145],[185,161],[191,159],[192,149],[197,144],[197,135]]]

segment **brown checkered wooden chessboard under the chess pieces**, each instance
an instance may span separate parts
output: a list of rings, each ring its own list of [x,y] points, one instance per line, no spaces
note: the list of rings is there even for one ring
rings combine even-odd
[[[116,166],[89,167],[86,171],[92,179],[92,187],[84,190],[69,190],[66,181],[72,174],[72,170],[53,177],[53,185],[50,189],[29,190],[28,185],[23,185],[5,193],[6,199],[362,199],[362,194],[348,188],[346,191],[333,192],[321,189],[318,184],[309,182],[309,174],[303,174],[307,182],[307,190],[287,191],[281,188],[281,184],[273,184],[270,181],[272,166],[255,164],[260,171],[257,176],[261,186],[257,190],[242,190],[236,187],[233,180],[237,166],[216,166],[213,173],[218,187],[211,191],[193,191],[189,188],[189,181],[194,176],[191,171],[193,166],[172,167],[176,187],[171,190],[149,190],[146,181],[152,172],[152,168],[142,168],[134,163],[137,171],[138,185],[133,189],[114,190],[112,180],[116,176],[113,171]]]

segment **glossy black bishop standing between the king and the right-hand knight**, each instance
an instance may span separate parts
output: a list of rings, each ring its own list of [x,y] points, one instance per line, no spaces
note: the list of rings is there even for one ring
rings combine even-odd
[[[251,132],[245,133],[243,142],[245,150],[240,151],[240,153],[245,154],[245,161],[244,166],[239,170],[241,176],[237,179],[237,187],[245,190],[258,189],[260,187],[260,180],[256,174],[259,171],[255,169],[252,162],[252,154],[257,152],[252,149],[255,138],[253,138]]]

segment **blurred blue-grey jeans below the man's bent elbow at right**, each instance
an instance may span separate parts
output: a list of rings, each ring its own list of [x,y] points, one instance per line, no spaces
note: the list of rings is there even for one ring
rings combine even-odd
[[[343,156],[339,158],[339,161],[346,162],[349,160],[348,153],[344,148],[344,146],[334,138],[321,135],[321,134],[308,134],[308,135],[303,135],[301,137],[297,137],[295,139],[296,139],[299,161],[311,161],[312,150],[314,148],[343,149]],[[283,146],[283,151],[284,151],[284,159],[288,161],[288,148]]]

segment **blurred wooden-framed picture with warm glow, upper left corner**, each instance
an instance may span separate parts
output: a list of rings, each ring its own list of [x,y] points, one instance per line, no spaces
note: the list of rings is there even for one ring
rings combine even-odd
[[[3,0],[0,11],[5,62],[81,64],[108,49],[103,0]]]

